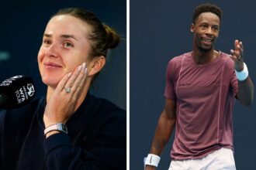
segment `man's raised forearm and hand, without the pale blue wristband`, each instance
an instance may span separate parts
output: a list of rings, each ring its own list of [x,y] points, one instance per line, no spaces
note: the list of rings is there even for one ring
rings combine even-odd
[[[234,60],[234,69],[240,73],[244,70],[244,46],[242,42],[237,39],[234,42],[234,49],[230,51],[233,56],[230,56]],[[238,80],[238,93],[237,98],[241,104],[250,106],[254,100],[254,84],[251,81],[250,76],[247,76],[245,80]]]

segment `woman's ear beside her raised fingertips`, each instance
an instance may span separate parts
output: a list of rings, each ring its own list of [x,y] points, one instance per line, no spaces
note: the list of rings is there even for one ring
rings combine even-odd
[[[89,64],[89,73],[88,76],[94,76],[96,73],[99,73],[102,70],[103,66],[106,64],[106,58],[104,56],[98,56],[92,59]]]

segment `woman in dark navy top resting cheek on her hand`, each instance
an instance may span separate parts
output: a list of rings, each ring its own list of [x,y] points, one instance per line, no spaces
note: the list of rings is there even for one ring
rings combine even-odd
[[[47,97],[0,114],[0,169],[125,169],[126,114],[88,89],[119,36],[92,12],[47,24],[38,64]]]

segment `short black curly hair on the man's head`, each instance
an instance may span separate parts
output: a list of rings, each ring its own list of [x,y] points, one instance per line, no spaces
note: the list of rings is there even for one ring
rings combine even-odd
[[[221,20],[222,11],[221,11],[220,7],[218,7],[217,5],[206,3],[206,4],[198,5],[195,8],[195,10],[193,12],[193,24],[195,24],[199,15],[202,14],[203,12],[212,12],[213,14],[217,15]]]

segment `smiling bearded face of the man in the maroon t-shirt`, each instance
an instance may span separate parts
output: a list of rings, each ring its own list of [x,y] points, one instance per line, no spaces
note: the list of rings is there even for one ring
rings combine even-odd
[[[212,12],[203,12],[191,26],[195,46],[202,52],[213,49],[220,32],[220,18]]]

